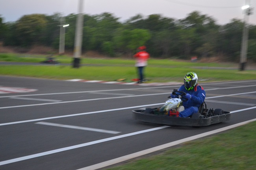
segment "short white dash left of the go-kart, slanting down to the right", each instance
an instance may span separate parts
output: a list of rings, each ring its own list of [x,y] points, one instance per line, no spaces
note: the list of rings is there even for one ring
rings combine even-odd
[[[59,124],[59,123],[50,123],[50,122],[37,122],[35,124],[43,124],[47,126],[57,126],[61,128],[71,128],[71,129],[79,129],[79,130],[88,130],[93,132],[102,132],[102,133],[110,133],[110,134],[117,134],[121,132],[113,131],[113,130],[104,130],[104,129],[96,129],[96,128],[87,128],[87,127],[81,127],[81,126],[72,126],[67,124]]]

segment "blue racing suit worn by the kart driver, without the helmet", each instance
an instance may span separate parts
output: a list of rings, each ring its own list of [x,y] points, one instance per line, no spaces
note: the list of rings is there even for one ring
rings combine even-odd
[[[195,86],[192,90],[187,90],[184,85],[182,85],[178,91],[184,91],[185,93],[189,93],[191,95],[191,99],[188,101],[183,101],[183,106],[185,108],[184,111],[180,112],[179,117],[189,117],[193,113],[198,112],[198,108],[204,102],[205,99],[205,91],[201,86]],[[177,92],[177,94],[179,94]],[[178,96],[176,96],[178,97]]]

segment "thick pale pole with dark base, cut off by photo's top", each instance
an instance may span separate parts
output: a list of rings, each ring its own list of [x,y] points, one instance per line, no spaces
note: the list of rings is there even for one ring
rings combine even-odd
[[[82,38],[83,38],[83,0],[79,0],[79,14],[76,19],[76,35],[74,44],[74,63],[73,68],[79,68],[80,56],[82,51]]]

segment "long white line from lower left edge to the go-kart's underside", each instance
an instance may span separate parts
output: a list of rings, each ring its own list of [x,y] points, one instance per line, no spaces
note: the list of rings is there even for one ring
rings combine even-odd
[[[18,158],[15,158],[15,159],[9,159],[9,160],[0,162],[0,165],[6,165],[6,164],[9,164],[9,163],[15,163],[15,162],[24,161],[24,160],[27,160],[27,159],[32,159],[32,158],[35,158],[35,157],[55,154],[55,153],[58,153],[58,152],[63,152],[63,151],[67,151],[67,150],[81,148],[81,147],[84,147],[84,146],[89,146],[89,145],[92,145],[92,144],[102,143],[102,142],[106,142],[106,141],[112,141],[112,140],[120,139],[120,138],[123,138],[123,137],[138,135],[138,134],[141,134],[141,133],[152,132],[152,131],[155,131],[155,130],[160,130],[160,129],[168,128],[168,127],[170,127],[170,126],[161,126],[161,127],[157,127],[157,128],[141,130],[141,131],[138,131],[138,132],[128,133],[128,134],[119,135],[119,136],[115,136],[115,137],[109,137],[109,138],[106,138],[106,139],[100,139],[100,140],[92,141],[92,142],[88,142],[88,143],[77,144],[77,145],[74,145],[74,146],[59,148],[59,149],[56,149],[56,150],[50,150],[50,151],[46,151],[46,152],[42,152],[42,153],[38,153],[38,154],[28,155],[28,156],[24,156],[24,157],[18,157]]]

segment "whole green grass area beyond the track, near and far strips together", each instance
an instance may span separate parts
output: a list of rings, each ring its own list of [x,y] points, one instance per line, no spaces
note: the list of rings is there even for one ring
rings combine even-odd
[[[61,63],[69,63],[70,66],[40,65],[19,66],[9,65],[0,67],[1,75],[15,75],[25,77],[38,77],[47,79],[85,79],[106,80],[116,79],[131,80],[137,78],[137,70],[133,59],[100,59],[82,58],[79,69],[72,68],[72,58],[68,56],[56,56]],[[43,61],[45,56],[27,56],[15,54],[0,54],[0,61],[9,62],[36,62]],[[85,65],[83,65],[85,64]],[[221,69],[215,69],[219,67]],[[237,68],[237,69],[223,69]],[[176,60],[150,59],[145,68],[145,77],[152,82],[182,82],[184,75],[194,71],[199,79],[208,79],[208,82],[226,80],[250,80],[256,76],[256,70],[239,71],[238,64],[230,63],[192,63]]]

